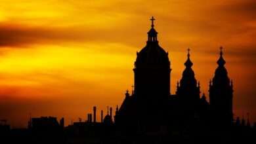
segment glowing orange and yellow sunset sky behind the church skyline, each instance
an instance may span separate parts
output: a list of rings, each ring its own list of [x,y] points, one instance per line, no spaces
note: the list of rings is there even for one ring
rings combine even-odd
[[[13,127],[32,117],[85,120],[93,106],[121,105],[133,84],[136,51],[155,16],[169,52],[171,93],[186,49],[208,96],[223,46],[234,81],[234,113],[256,121],[256,1],[0,0],[0,118]],[[209,98],[207,98],[209,100]],[[245,115],[246,116],[246,115]],[[245,117],[247,118],[247,117]]]

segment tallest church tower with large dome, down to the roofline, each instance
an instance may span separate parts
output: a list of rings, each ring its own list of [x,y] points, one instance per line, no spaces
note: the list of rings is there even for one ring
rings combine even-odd
[[[146,46],[137,52],[135,62],[135,97],[139,101],[161,101],[170,95],[170,62],[168,52],[158,44],[154,17]]]

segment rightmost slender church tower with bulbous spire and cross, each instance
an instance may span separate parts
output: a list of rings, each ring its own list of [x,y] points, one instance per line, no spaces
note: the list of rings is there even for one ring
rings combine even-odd
[[[215,70],[213,81],[209,85],[210,107],[212,119],[215,124],[230,126],[233,122],[232,99],[233,84],[228,78],[228,72],[224,67],[226,63],[223,59],[223,51],[221,47],[220,58],[217,61],[218,67]]]

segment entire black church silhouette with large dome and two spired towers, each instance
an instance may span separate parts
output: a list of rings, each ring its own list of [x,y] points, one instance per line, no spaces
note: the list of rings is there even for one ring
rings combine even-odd
[[[194,77],[193,63],[188,59],[182,79],[177,83],[177,92],[170,94],[171,63],[168,52],[158,43],[154,29],[154,17],[148,31],[146,46],[137,52],[135,62],[135,89],[125,94],[121,107],[116,111],[115,123],[119,126],[156,128],[161,126],[186,125],[194,117],[206,124],[229,126],[233,122],[232,81],[228,78],[226,63],[221,48],[219,65],[209,84],[209,103],[200,97],[200,83]],[[203,70],[203,69],[202,69]]]

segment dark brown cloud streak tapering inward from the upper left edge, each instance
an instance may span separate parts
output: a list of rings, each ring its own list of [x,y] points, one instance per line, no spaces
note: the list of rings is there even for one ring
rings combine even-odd
[[[59,43],[60,41],[74,41],[73,31],[68,29],[54,29],[50,27],[29,27],[18,24],[0,24],[0,46],[26,46],[34,43]]]

